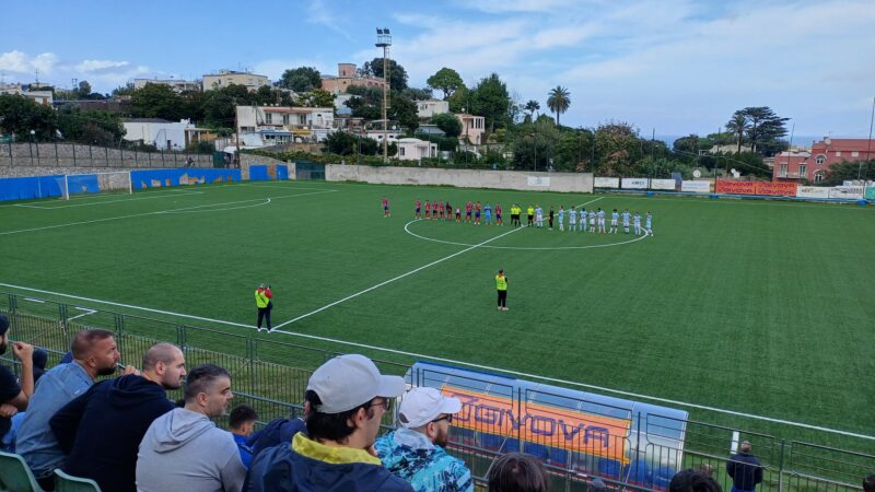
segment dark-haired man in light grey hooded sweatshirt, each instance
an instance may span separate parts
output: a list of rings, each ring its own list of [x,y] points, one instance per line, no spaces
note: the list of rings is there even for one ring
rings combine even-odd
[[[213,364],[188,373],[185,408],[152,422],[137,455],[140,492],[240,492],[246,468],[234,437],[210,420],[228,410],[231,374]]]

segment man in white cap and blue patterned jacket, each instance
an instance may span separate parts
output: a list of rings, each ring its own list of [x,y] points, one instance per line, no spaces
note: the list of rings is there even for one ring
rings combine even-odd
[[[389,471],[417,492],[474,492],[465,461],[446,454],[450,424],[462,410],[457,398],[435,388],[413,388],[401,399],[401,427],[376,440],[374,448]]]

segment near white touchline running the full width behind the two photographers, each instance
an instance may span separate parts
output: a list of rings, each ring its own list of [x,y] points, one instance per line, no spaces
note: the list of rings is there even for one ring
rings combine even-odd
[[[201,316],[192,316],[192,315],[186,315],[186,314],[180,314],[180,313],[173,313],[173,312],[168,312],[168,311],[161,311],[161,309],[153,309],[153,308],[149,308],[149,307],[133,306],[133,305],[130,305],[130,304],[114,303],[114,302],[110,302],[110,301],[102,301],[102,300],[96,300],[96,298],[82,297],[82,296],[78,296],[78,295],[63,294],[63,293],[59,293],[59,292],[45,291],[45,290],[40,290],[40,289],[25,288],[25,286],[21,286],[21,285],[13,285],[13,284],[10,284],[10,283],[0,283],[0,285],[12,288],[12,289],[20,289],[22,291],[27,291],[27,292],[38,292],[40,294],[57,295],[59,297],[74,298],[74,300],[79,300],[79,301],[93,302],[93,303],[105,304],[105,305],[109,305],[109,306],[127,307],[127,308],[130,308],[130,309],[143,311],[143,312],[149,312],[149,313],[158,313],[158,314],[164,314],[164,315],[170,315],[170,316],[178,316],[178,317],[182,317],[182,318],[197,319],[199,321],[209,321],[209,323],[215,323],[215,324],[219,324],[219,325],[228,325],[228,326],[235,326],[235,327],[240,327],[240,328],[248,328],[248,329],[252,329],[252,330],[257,330],[257,328],[255,326],[244,325],[242,323],[228,321],[228,320],[224,320],[224,319],[205,318],[205,317],[201,317]],[[603,387],[603,386],[588,385],[588,384],[585,384],[585,383],[579,383],[579,382],[574,382],[574,380],[559,379],[559,378],[556,378],[556,377],[548,377],[548,376],[539,376],[537,374],[523,373],[523,372],[520,372],[520,371],[510,371],[510,370],[506,370],[506,368],[492,367],[492,366],[483,365],[483,364],[474,364],[474,363],[470,363],[470,362],[456,361],[456,360],[453,360],[453,359],[438,358],[438,356],[423,354],[423,353],[407,352],[407,351],[404,351],[404,350],[395,350],[395,349],[387,349],[385,347],[376,347],[376,345],[370,345],[370,344],[366,344],[366,343],[350,342],[350,341],[339,340],[339,339],[335,339],[335,338],[319,337],[319,336],[316,336],[316,335],[298,333],[298,332],[294,332],[294,331],[278,330],[276,328],[275,328],[273,332],[289,335],[289,336],[292,336],[292,337],[306,338],[306,339],[310,339],[310,340],[318,340],[318,341],[324,341],[324,342],[329,342],[329,343],[337,343],[337,344],[347,345],[347,347],[355,347],[355,348],[359,348],[359,349],[369,349],[369,350],[375,350],[375,351],[378,351],[378,352],[394,353],[394,354],[397,354],[397,355],[405,355],[405,356],[415,358],[415,359],[425,359],[425,360],[431,360],[431,361],[435,361],[435,362],[444,362],[444,363],[452,364],[452,365],[463,365],[463,366],[479,368],[479,370],[483,370],[483,371],[510,374],[510,375],[513,375],[513,376],[518,376],[518,377],[524,377],[524,378],[539,379],[539,380],[544,380],[544,382],[558,383],[558,384],[568,385],[568,386],[576,386],[576,387],[580,387],[580,388],[594,389],[594,390],[609,393],[609,394],[614,394],[614,395],[620,395],[620,396],[629,397],[629,398],[644,399],[644,400],[650,400],[650,401],[658,401],[661,403],[667,403],[667,405],[675,405],[675,406],[679,406],[679,407],[693,408],[693,409],[697,409],[697,410],[707,410],[707,411],[711,411],[711,412],[715,412],[715,413],[722,413],[722,414],[726,414],[726,415],[743,417],[743,418],[751,419],[751,420],[759,420],[759,421],[763,421],[763,422],[778,423],[778,424],[789,425],[789,426],[794,426],[794,427],[800,427],[800,429],[808,429],[808,430],[814,430],[814,431],[819,431],[819,432],[827,432],[827,433],[831,433],[831,434],[844,435],[844,436],[849,436],[849,437],[858,437],[858,438],[867,440],[867,441],[875,441],[875,436],[873,436],[873,435],[858,434],[858,433],[853,433],[853,432],[849,432],[849,431],[842,431],[842,430],[838,430],[838,429],[822,427],[822,426],[819,426],[819,425],[812,425],[812,424],[806,424],[806,423],[802,423],[802,422],[794,422],[794,421],[790,421],[790,420],[774,419],[774,418],[771,418],[771,417],[762,417],[762,415],[757,415],[757,414],[754,414],[754,413],[737,412],[735,410],[726,410],[726,409],[721,409],[721,408],[716,408],[716,407],[708,407],[708,406],[703,406],[703,405],[688,403],[688,402],[685,402],[685,401],[670,400],[670,399],[667,399],[667,398],[660,398],[660,397],[653,397],[653,396],[649,396],[649,395],[635,394],[635,393],[631,393],[631,391],[623,391],[623,390],[620,390],[620,389],[606,388],[606,387]]]

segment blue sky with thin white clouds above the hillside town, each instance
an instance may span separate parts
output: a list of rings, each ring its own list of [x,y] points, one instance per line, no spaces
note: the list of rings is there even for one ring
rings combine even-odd
[[[336,74],[382,57],[375,28],[388,27],[415,87],[443,67],[468,86],[494,72],[548,112],[561,85],[562,124],[656,136],[712,133],[736,109],[770,106],[800,143],[868,136],[873,26],[873,0],[32,0],[3,7],[0,75],[27,83],[38,70],[40,82],[106,93],[220,69]]]

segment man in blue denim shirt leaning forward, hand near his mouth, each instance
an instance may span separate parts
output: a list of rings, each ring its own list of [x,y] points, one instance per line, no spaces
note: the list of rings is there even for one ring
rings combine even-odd
[[[73,362],[57,365],[42,377],[34,391],[33,407],[18,433],[18,453],[44,490],[55,490],[55,469],[65,458],[48,425],[49,419],[88,391],[97,376],[114,374],[120,356],[113,333],[105,330],[80,331],[73,337],[70,351]]]

